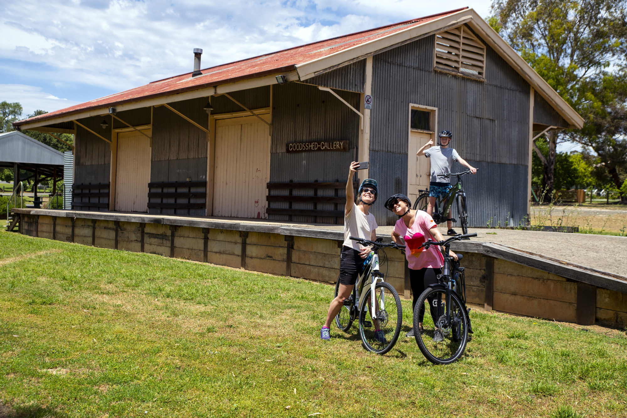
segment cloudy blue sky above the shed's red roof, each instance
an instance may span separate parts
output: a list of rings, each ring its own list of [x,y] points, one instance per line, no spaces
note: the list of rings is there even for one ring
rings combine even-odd
[[[0,101],[24,116],[192,70],[491,1],[50,0],[0,2]]]

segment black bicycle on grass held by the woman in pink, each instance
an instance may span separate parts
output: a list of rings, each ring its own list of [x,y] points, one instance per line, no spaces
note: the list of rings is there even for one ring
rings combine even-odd
[[[414,333],[418,348],[434,364],[450,364],[458,360],[466,349],[472,334],[470,309],[466,308],[466,279],[464,268],[458,260],[451,264],[450,247],[452,241],[477,237],[477,233],[457,234],[443,241],[427,240],[421,247],[430,245],[444,247],[440,252],[444,257],[442,274],[438,274],[438,284],[427,287],[418,297],[414,307]],[[422,327],[419,324],[422,323]]]

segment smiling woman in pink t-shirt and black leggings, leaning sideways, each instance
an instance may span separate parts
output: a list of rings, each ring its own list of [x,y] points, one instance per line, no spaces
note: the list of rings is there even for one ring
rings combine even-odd
[[[433,218],[422,210],[413,210],[411,201],[405,195],[394,195],[386,201],[386,208],[391,210],[399,217],[394,225],[392,232],[392,240],[396,244],[406,245],[405,256],[409,265],[409,283],[411,284],[411,292],[413,293],[412,311],[416,307],[418,297],[424,292],[424,289],[431,284],[437,284],[436,275],[442,273],[444,259],[438,247],[431,245],[429,249],[418,249],[418,247],[426,242],[429,238],[435,241],[443,241],[440,230],[436,228]],[[451,258],[457,260],[457,255],[450,251]],[[437,322],[435,318],[435,310],[433,301],[429,300],[431,306],[431,317],[433,323]],[[420,309],[420,318],[424,316],[424,306]],[[419,331],[423,331],[422,321],[418,324]],[[406,336],[414,336],[414,330],[410,330]],[[436,329],[433,340],[442,341],[444,336],[441,331]]]

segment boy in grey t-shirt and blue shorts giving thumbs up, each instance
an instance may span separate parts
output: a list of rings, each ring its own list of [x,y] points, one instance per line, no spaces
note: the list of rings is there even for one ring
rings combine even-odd
[[[451,172],[451,166],[453,161],[457,161],[461,165],[470,169],[470,172],[475,174],[477,169],[466,163],[466,160],[460,157],[460,154],[453,148],[448,146],[451,143],[451,131],[440,132],[440,146],[433,146],[433,140],[424,144],[416,153],[417,156],[424,155],[426,158],[431,158],[431,179],[429,181],[429,203],[427,204],[427,213],[433,215],[433,206],[435,206],[435,199],[439,195],[446,195],[451,190],[450,179],[443,177],[442,174],[449,174]],[[451,218],[451,212],[446,215],[448,219]],[[446,221],[446,227],[448,227],[448,235],[455,235],[456,232],[453,229],[453,223],[450,220]]]

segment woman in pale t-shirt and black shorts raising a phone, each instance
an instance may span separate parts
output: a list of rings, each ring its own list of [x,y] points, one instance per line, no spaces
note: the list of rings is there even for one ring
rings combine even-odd
[[[320,330],[320,338],[329,340],[329,326],[335,315],[342,309],[344,300],[350,297],[357,276],[364,267],[364,261],[371,251],[371,247],[364,247],[354,242],[349,237],[359,237],[366,240],[374,241],[377,238],[377,222],[374,215],[369,213],[370,206],[377,200],[377,182],[367,178],[362,181],[357,191],[359,198],[355,203],[353,193],[352,178],[357,173],[359,163],[353,161],[350,163],[349,179],[346,182],[346,208],[344,210],[344,245],[340,254],[340,286],[337,297],[331,301],[329,313],[327,313],[327,322]],[[385,338],[382,331],[375,330],[376,336]]]

